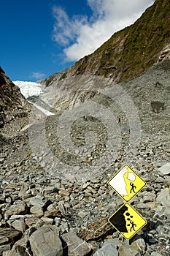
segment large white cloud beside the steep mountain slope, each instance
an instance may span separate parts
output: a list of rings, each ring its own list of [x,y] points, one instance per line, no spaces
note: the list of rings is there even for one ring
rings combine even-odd
[[[77,61],[93,53],[116,31],[129,26],[155,0],[87,0],[93,15],[69,15],[53,7],[53,39],[63,46],[67,61]]]

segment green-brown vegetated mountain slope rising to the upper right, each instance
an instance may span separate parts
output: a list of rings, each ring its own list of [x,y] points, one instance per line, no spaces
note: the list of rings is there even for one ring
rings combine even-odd
[[[153,64],[170,58],[170,1],[156,0],[141,18],[113,34],[94,53],[77,61],[69,70],[57,72],[58,79],[73,75],[99,75],[120,83],[134,78]],[[55,74],[44,80],[49,85]]]

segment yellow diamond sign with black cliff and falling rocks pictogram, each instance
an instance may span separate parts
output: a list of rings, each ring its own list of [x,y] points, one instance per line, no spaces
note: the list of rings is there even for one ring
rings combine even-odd
[[[115,211],[108,221],[125,239],[130,239],[147,224],[147,221],[129,203],[125,203]]]

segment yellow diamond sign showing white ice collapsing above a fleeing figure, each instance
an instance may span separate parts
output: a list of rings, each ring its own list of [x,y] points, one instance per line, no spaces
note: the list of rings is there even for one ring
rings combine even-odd
[[[142,180],[128,165],[124,165],[107,182],[126,202],[136,195],[146,182]]]

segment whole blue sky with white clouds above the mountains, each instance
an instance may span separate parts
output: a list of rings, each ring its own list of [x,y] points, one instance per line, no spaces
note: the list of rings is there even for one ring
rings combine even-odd
[[[153,1],[1,1],[0,65],[12,80],[47,78],[134,23]]]

